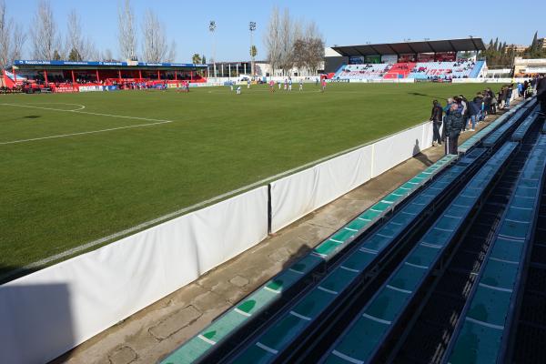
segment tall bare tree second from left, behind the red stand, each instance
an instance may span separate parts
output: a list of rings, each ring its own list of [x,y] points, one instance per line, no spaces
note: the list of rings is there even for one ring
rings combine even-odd
[[[35,59],[54,59],[60,52],[61,41],[57,33],[53,11],[48,0],[40,0],[35,19],[30,28]]]

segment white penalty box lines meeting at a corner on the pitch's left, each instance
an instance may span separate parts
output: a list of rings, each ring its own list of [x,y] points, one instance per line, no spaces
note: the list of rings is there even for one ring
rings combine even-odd
[[[11,140],[11,141],[7,141],[7,142],[0,142],[0,146],[8,145],[8,144],[33,142],[33,141],[37,141],[37,140],[55,139],[55,138],[67,137],[67,136],[83,136],[83,135],[86,135],[86,134],[105,133],[107,131],[128,129],[128,128],[132,128],[132,127],[157,126],[157,125],[169,124],[169,123],[174,123],[175,122],[175,120],[161,120],[161,119],[151,119],[151,118],[139,117],[139,116],[123,116],[123,115],[112,115],[112,114],[103,114],[103,113],[92,113],[90,111],[64,110],[64,109],[59,109],[59,108],[42,107],[42,106],[29,106],[29,105],[18,105],[18,104],[0,104],[0,105],[16,106],[16,107],[28,107],[28,108],[39,108],[39,109],[51,110],[51,111],[65,111],[67,113],[87,114],[87,115],[94,115],[94,116],[107,116],[107,117],[118,117],[118,118],[126,118],[126,119],[154,121],[154,123],[136,124],[136,125],[132,125],[132,126],[116,126],[116,127],[109,127],[109,128],[106,128],[106,129],[84,131],[84,132],[79,132],[79,133],[69,133],[69,134],[60,134],[60,135],[56,135],[56,136],[41,136],[41,137],[34,137],[34,138],[29,138],[29,139]]]

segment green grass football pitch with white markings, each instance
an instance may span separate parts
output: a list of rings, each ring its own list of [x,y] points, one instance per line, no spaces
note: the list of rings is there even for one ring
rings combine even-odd
[[[433,99],[483,87],[0,96],[0,276],[414,126]]]

